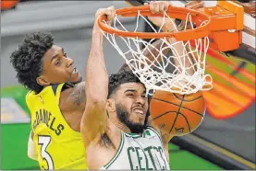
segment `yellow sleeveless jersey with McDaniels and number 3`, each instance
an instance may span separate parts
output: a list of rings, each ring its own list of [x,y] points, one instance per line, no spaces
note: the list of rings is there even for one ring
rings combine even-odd
[[[41,169],[87,169],[81,133],[68,126],[58,106],[63,85],[26,96],[38,162]]]

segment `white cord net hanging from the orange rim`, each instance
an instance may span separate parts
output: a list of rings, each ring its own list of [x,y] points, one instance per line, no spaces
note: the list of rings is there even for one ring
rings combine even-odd
[[[152,27],[152,24],[148,21],[146,17],[140,15],[138,12],[136,28],[133,31],[138,31],[139,20],[142,18],[145,20],[154,32],[160,32],[164,26],[165,19],[169,19],[170,22],[174,21],[167,14],[164,14],[163,24],[159,30],[155,30]],[[205,22],[204,22],[205,23]],[[105,23],[106,24],[106,23]],[[186,30],[187,26],[192,27],[193,23],[191,17],[188,14],[185,21],[185,27],[182,30]],[[116,16],[114,22],[112,23],[113,29],[119,29],[123,31],[129,31],[121,23],[120,19]],[[176,28],[177,29],[177,28]],[[179,30],[180,31],[180,30]],[[116,51],[125,59],[131,71],[136,74],[141,83],[143,83],[149,93],[149,90],[153,92],[155,90],[163,90],[171,93],[178,94],[190,94],[195,93],[199,90],[210,90],[212,88],[212,77],[209,74],[204,74],[205,71],[205,58],[206,51],[209,47],[209,39],[205,37],[204,39],[194,40],[195,48],[192,48],[189,41],[177,41],[175,43],[170,43],[166,38],[160,39],[161,46],[159,49],[156,49],[152,45],[152,41],[147,42],[140,38],[128,38],[117,36],[115,34],[110,34],[104,32],[104,37],[116,48]],[[123,40],[125,45],[128,48],[120,48],[120,41]],[[175,47],[177,44],[182,45],[182,51],[177,51]],[[181,44],[180,44],[181,43]],[[141,45],[145,48],[141,49]],[[127,49],[127,50],[125,50]],[[172,51],[172,54],[164,54],[163,51],[169,49]],[[204,49],[202,52],[202,49]],[[144,55],[145,51],[149,51],[152,54],[153,59],[149,59]],[[153,51],[157,51],[154,55]],[[177,65],[174,63],[178,63]],[[186,62],[186,63],[185,63]],[[168,71],[172,68],[172,71]],[[193,71],[191,74],[188,71]],[[207,77],[209,79],[207,79]]]

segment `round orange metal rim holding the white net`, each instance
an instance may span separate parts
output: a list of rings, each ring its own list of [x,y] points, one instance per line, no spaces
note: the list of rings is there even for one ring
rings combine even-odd
[[[150,11],[150,6],[132,6],[132,7],[120,8],[116,10],[116,15],[122,16],[122,17],[137,17],[138,11],[140,11],[140,15],[143,17],[163,17],[163,14],[152,14],[152,12]],[[211,18],[199,11],[188,9],[185,7],[169,6],[166,13],[171,18],[179,18],[179,19],[186,19],[187,15],[190,14],[191,20],[195,23],[198,21],[207,21],[207,22],[205,25],[199,28],[188,29],[188,30],[179,31],[176,33],[126,32],[119,29],[113,29],[104,24],[104,21],[106,20],[105,15],[99,17],[98,24],[100,28],[107,33],[116,34],[121,37],[140,38],[140,39],[175,38],[176,40],[197,40],[197,39],[201,39],[203,37],[208,36],[211,32],[211,30],[209,29]]]

